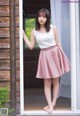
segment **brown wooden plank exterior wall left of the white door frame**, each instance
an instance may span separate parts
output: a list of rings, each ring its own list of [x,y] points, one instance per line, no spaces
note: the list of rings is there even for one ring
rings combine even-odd
[[[18,9],[19,9],[19,0],[0,0],[0,87],[10,86],[11,88],[10,95],[11,94],[13,95],[15,93],[13,97],[16,97],[15,99],[16,103],[19,103],[20,101],[19,99],[20,96],[19,93],[20,92],[19,90],[19,83],[20,83],[19,82],[20,81],[19,79],[20,78],[19,10]],[[15,31],[15,35],[14,35],[14,31]],[[16,40],[15,41],[16,49],[14,45],[14,40]],[[15,52],[16,54],[14,56]],[[14,61],[14,58],[16,59],[16,61]],[[16,63],[15,74],[14,71],[12,72],[14,63]],[[14,91],[13,90],[14,76],[15,76],[16,87],[15,87],[15,92],[12,93]],[[10,100],[11,99],[12,97],[10,96]]]

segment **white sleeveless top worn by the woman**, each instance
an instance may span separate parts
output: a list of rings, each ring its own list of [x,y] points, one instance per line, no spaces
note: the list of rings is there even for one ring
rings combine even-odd
[[[38,46],[41,49],[56,45],[56,42],[54,39],[53,26],[50,25],[50,27],[51,27],[50,31],[45,33],[34,30],[34,36],[35,36],[36,42],[38,43]]]

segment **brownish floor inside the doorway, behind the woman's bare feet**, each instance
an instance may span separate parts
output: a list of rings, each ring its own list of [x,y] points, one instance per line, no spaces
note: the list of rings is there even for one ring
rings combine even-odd
[[[24,109],[28,110],[43,110],[47,105],[43,88],[25,89],[24,91]],[[71,110],[71,99],[59,97],[55,110]]]

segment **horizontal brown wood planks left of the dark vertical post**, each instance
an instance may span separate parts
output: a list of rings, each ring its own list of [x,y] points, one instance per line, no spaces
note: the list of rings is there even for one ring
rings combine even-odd
[[[0,87],[10,84],[9,0],[0,1]]]

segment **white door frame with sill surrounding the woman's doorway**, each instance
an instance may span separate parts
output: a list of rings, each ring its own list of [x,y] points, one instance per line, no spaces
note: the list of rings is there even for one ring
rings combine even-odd
[[[70,111],[54,111],[52,115],[77,115],[77,94],[76,94],[76,41],[75,41],[75,3],[70,4],[71,16],[71,110]],[[20,115],[48,115],[45,111],[24,111],[24,71],[23,71],[23,0],[19,0],[19,29],[20,29]]]

